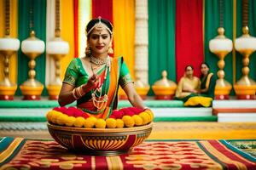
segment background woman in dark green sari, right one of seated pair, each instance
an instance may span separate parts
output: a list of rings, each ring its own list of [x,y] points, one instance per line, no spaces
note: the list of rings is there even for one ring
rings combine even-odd
[[[207,63],[201,64],[201,88],[198,91],[201,96],[211,97],[214,99],[214,89],[216,84],[216,78],[213,73],[209,72],[210,67]]]

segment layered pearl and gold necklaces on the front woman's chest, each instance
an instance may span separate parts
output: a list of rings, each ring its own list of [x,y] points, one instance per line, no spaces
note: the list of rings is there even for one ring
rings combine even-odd
[[[90,56],[90,67],[91,67],[91,71],[92,73],[95,75],[94,73],[94,69],[92,68],[91,63],[95,64],[95,65],[105,65],[106,64],[106,69],[104,71],[104,78],[102,81],[102,78],[99,78],[99,86],[94,89],[91,93],[91,99],[92,99],[92,103],[93,105],[97,108],[98,111],[103,111],[108,103],[108,94],[107,94],[107,82],[105,84],[105,93],[104,96],[102,97],[102,86],[103,83],[106,81],[107,76],[108,76],[108,72],[110,72],[110,58],[109,56],[106,59],[97,59],[93,56]]]

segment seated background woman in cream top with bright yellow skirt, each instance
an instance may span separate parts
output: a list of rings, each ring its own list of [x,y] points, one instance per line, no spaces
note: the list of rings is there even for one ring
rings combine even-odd
[[[198,77],[194,77],[193,73],[193,66],[187,65],[184,76],[177,84],[176,99],[183,100],[185,106],[209,107],[212,105],[212,99],[198,94],[201,82]]]

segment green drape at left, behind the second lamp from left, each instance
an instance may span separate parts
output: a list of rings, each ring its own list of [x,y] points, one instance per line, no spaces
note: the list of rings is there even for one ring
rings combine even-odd
[[[32,4],[32,5],[31,5]],[[32,17],[29,14],[31,7]],[[19,39],[20,42],[29,37],[31,31],[29,23],[30,19],[33,20],[33,29],[36,32],[36,37],[46,40],[46,0],[19,0]],[[28,61],[29,59],[25,54],[18,52],[18,85],[22,84],[28,78]],[[37,72],[36,79],[44,84],[45,82],[45,53],[41,54],[36,59],[35,71]],[[46,88],[44,84],[44,92],[42,95],[46,95]],[[21,95],[20,88],[17,90],[17,95]]]

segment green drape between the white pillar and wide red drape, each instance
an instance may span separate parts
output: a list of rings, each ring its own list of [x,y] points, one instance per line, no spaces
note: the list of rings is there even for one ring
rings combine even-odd
[[[159,80],[164,70],[169,79],[176,81],[175,63],[175,1],[148,0],[149,84]]]

